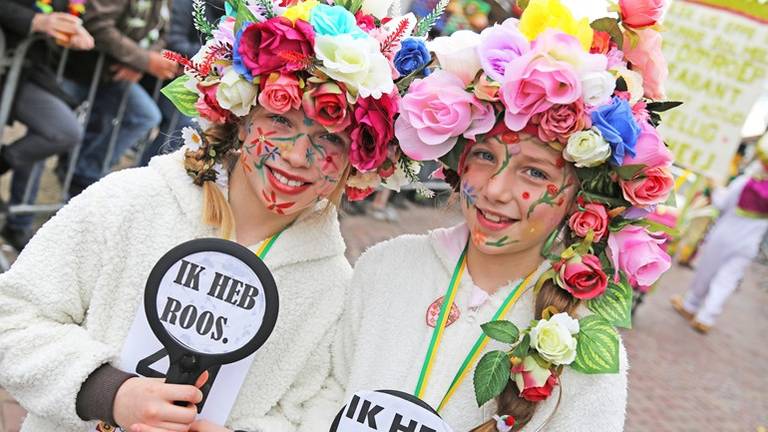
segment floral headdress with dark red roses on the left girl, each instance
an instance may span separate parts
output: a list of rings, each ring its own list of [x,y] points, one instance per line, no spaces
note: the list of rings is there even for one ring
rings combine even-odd
[[[273,113],[302,108],[330,132],[351,137],[347,182],[351,199],[361,199],[380,182],[407,169],[399,165],[394,117],[400,91],[428,73],[425,35],[445,8],[417,20],[388,18],[392,0],[227,0],[219,23],[206,21],[202,0],[194,2],[194,23],[207,41],[191,59],[166,56],[185,74],[163,93],[201,124],[237,123],[257,104]],[[333,5],[332,5],[333,4]],[[196,151],[197,184],[224,175],[222,156],[242,143],[214,148],[205,134],[187,131]],[[233,142],[234,141],[234,142]]]

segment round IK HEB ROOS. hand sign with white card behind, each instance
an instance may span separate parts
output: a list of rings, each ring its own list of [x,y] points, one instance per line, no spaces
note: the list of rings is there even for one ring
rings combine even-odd
[[[183,384],[207,370],[198,418],[224,424],[278,303],[274,278],[253,251],[215,238],[183,243],[152,269],[117,367]]]

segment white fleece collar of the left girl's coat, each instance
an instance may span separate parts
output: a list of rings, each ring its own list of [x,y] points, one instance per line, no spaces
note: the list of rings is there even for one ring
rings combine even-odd
[[[201,226],[199,235],[215,236],[215,230],[201,222],[203,190],[192,182],[184,170],[184,149],[157,156],[149,166],[165,180],[188,223]],[[306,210],[280,235],[265,260],[270,269],[344,255],[346,245],[341,237],[336,209],[331,207],[326,210],[326,203],[322,201]],[[250,245],[249,249],[256,251],[258,247],[259,244]]]

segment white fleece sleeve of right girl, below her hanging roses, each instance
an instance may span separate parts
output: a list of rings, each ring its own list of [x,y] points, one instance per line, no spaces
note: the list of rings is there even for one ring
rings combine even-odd
[[[566,368],[561,377],[563,392],[554,410],[557,394],[546,406],[537,407],[534,419],[523,429],[533,431],[552,416],[542,430],[553,432],[618,432],[624,430],[627,408],[627,351],[619,341],[619,373],[589,375]],[[553,412],[554,410],[554,412]],[[532,427],[535,425],[535,427]]]

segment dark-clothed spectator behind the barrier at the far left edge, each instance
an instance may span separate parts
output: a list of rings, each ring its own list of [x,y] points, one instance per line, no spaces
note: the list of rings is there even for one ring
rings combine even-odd
[[[42,13],[35,9],[34,0],[0,2],[0,27],[9,50],[35,33],[49,36],[64,47],[93,48],[93,38],[80,18],[57,12],[66,11],[68,2],[54,1],[51,6],[54,12]],[[12,118],[27,126],[26,135],[0,149],[0,174],[13,170],[11,205],[22,204],[28,181],[32,182],[29,203],[34,202],[40,180],[39,173],[32,176],[34,164],[71,150],[83,133],[72,111],[71,98],[56,83],[47,42],[40,40],[30,47],[17,91],[2,95],[15,98]],[[23,249],[32,234],[33,218],[31,214],[9,214],[0,235],[17,250]]]

